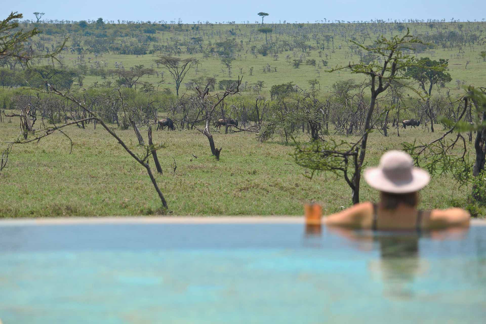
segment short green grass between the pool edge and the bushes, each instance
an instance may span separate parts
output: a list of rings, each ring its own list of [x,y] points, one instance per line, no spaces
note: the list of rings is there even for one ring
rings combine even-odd
[[[14,146],[8,166],[0,172],[0,217],[160,214],[161,203],[145,169],[114,138],[92,125],[66,132],[73,141],[71,154],[69,140],[58,133],[38,144]],[[0,123],[2,142],[18,134],[17,119]],[[133,130],[117,134],[130,149],[143,153]],[[301,215],[308,201],[322,204],[325,213],[351,205],[342,178],[324,173],[311,181],[303,176],[305,169],[289,155],[293,146],[260,144],[251,134],[213,134],[216,146],[223,147],[220,161],[210,154],[207,138],[195,130],[154,133],[155,143],[165,143],[158,151],[164,174],[156,174],[156,180],[174,215]],[[146,131],[142,135],[147,138]],[[372,133],[368,165],[377,165],[385,151],[400,149],[402,141],[428,141],[437,133],[406,129],[400,136]],[[173,157],[175,173],[170,167]],[[420,207],[465,206],[469,192],[447,176],[436,177],[422,190]],[[361,200],[377,198],[377,191],[363,181]]]

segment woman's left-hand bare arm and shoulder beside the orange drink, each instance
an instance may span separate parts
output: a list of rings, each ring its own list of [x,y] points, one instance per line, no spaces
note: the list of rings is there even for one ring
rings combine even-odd
[[[371,222],[372,212],[373,204],[364,202],[325,217],[324,223],[327,225],[362,228],[367,226],[368,221]]]

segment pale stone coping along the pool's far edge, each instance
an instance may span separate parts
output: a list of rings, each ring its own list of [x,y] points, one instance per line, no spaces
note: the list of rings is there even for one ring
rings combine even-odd
[[[170,217],[60,217],[0,219],[0,226],[74,224],[304,224],[299,216],[170,216]],[[472,226],[486,226],[486,220],[471,219]]]

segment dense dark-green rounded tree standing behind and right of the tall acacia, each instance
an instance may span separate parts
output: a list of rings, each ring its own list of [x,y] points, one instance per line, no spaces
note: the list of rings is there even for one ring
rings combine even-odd
[[[413,59],[413,62],[416,64],[406,69],[405,76],[416,80],[422,91],[427,94],[427,116],[430,119],[430,130],[434,133],[434,112],[430,105],[430,95],[434,85],[452,81],[451,74],[446,71],[449,60],[432,61],[428,57],[421,57],[420,60]],[[427,84],[428,90],[425,89]]]

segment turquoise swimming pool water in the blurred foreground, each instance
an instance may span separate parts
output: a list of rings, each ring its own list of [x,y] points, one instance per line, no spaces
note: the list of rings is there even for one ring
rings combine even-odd
[[[486,226],[419,237],[306,235],[302,224],[0,224],[3,324],[485,318]]]

